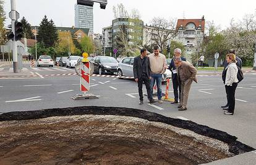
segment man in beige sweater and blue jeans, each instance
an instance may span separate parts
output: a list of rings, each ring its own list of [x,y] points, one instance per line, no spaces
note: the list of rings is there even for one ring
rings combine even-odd
[[[148,55],[150,59],[150,69],[151,69],[151,95],[153,96],[153,86],[156,82],[157,87],[157,97],[158,103],[163,103],[162,101],[162,74],[167,68],[166,57],[160,53],[159,47],[156,45],[153,47],[154,53]]]

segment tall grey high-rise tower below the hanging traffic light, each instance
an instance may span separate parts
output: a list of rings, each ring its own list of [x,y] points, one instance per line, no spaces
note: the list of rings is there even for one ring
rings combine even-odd
[[[75,4],[75,27],[89,28],[89,35],[93,34],[93,7]]]

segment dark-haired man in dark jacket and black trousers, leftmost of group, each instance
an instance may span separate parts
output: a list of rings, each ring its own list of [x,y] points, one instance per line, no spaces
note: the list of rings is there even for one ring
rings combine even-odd
[[[134,58],[134,78],[135,82],[138,83],[140,103],[143,104],[143,93],[142,93],[142,83],[145,82],[147,88],[148,100],[150,103],[155,103],[155,100],[151,96],[150,90],[150,79],[151,79],[151,70],[150,70],[150,61],[147,57],[147,49],[142,48],[140,50],[140,56]]]

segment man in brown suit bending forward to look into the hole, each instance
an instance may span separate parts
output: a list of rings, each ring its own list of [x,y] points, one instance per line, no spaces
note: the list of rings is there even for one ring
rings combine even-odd
[[[197,83],[197,69],[189,62],[182,61],[181,57],[175,57],[174,64],[177,69],[177,80],[181,85],[181,101],[178,110],[186,111],[190,87],[193,80]]]

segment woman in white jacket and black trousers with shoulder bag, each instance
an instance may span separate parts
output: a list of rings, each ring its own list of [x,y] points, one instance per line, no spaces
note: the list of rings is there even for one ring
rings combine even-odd
[[[234,108],[235,108],[235,93],[236,93],[236,87],[237,87],[237,65],[236,65],[236,55],[233,53],[229,53],[226,55],[226,61],[228,63],[228,66],[226,67],[226,75],[225,75],[225,88],[226,88],[226,94],[228,98],[228,106],[226,108],[223,108],[224,114],[227,115],[233,115],[234,114]]]

